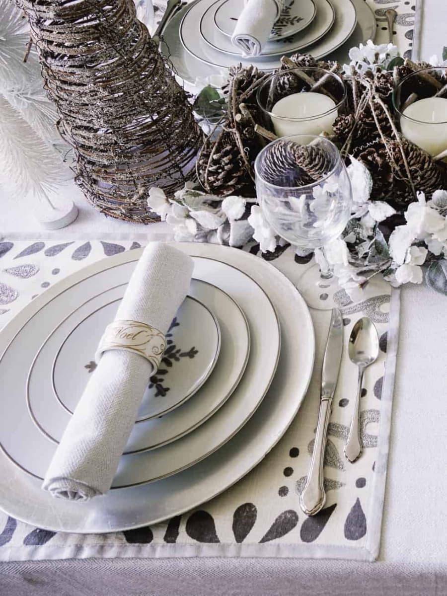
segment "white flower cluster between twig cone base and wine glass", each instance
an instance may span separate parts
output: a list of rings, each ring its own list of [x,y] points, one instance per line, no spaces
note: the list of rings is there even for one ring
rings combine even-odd
[[[251,240],[253,228],[242,219],[250,199],[231,196],[222,200],[193,187],[187,182],[174,199],[167,198],[161,188],[149,191],[148,207],[173,227],[176,241],[244,246]]]

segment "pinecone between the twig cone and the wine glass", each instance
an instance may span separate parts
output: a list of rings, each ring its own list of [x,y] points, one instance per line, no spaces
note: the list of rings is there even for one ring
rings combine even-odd
[[[197,158],[197,177],[203,188],[219,196],[254,194],[254,184],[229,132],[215,143],[206,142]]]

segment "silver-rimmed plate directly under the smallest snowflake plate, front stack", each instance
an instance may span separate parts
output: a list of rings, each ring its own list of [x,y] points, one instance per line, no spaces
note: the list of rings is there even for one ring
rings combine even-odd
[[[70,313],[36,354],[26,399],[36,426],[53,443],[60,442],[95,368],[92,354],[125,287],[101,292]],[[243,312],[228,294],[204,281],[191,282],[190,297],[172,322],[167,340],[172,349],[168,347],[159,370],[148,380],[126,454],[167,445],[203,424],[229,398],[249,357],[250,333]],[[201,363],[196,364],[200,357]],[[209,382],[204,383],[211,372]],[[187,399],[190,388],[194,399]],[[173,393],[175,399],[171,399]],[[168,406],[164,414],[142,417]]]

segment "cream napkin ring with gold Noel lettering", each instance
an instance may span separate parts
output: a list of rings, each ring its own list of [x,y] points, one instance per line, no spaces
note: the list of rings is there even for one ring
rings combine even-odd
[[[127,350],[147,359],[155,372],[160,366],[165,349],[166,337],[155,327],[129,319],[118,319],[105,328],[95,353],[95,361],[99,362],[101,355],[107,350]]]

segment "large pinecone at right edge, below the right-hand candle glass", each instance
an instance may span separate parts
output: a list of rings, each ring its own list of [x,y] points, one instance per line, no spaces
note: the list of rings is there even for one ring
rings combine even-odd
[[[439,166],[433,161],[432,156],[417,145],[402,139],[403,152],[411,175],[415,191],[421,191],[426,195],[427,201],[432,197],[435,190],[442,188],[443,181]],[[393,201],[390,201],[396,208],[402,208],[414,201],[411,185],[406,174],[405,164],[398,141],[390,141],[389,148],[398,166],[395,172],[395,184],[393,190]],[[383,148],[385,159],[389,160],[385,148]]]

